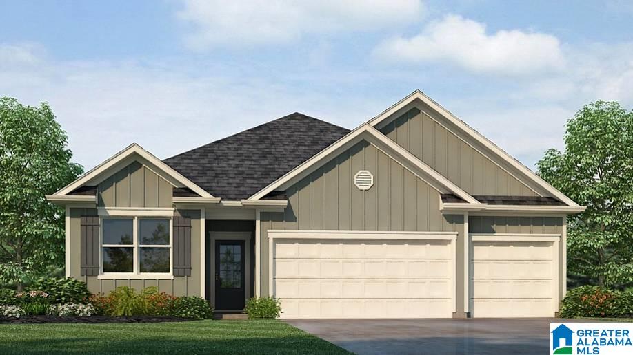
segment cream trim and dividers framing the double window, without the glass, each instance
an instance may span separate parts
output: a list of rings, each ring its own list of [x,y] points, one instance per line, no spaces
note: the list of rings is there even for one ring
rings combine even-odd
[[[111,280],[111,279],[157,279],[157,280],[172,280],[174,279],[174,218],[173,214],[170,216],[160,215],[157,216],[152,213],[146,215],[107,215],[99,218],[99,276],[97,279]],[[103,244],[103,219],[132,219],[132,244]],[[139,219],[168,219],[169,220],[169,245],[147,245],[139,244]],[[134,248],[132,257],[134,260],[133,272],[103,272],[103,248]],[[169,248],[169,272],[140,272],[140,259],[139,248],[143,247],[157,247],[157,248]]]

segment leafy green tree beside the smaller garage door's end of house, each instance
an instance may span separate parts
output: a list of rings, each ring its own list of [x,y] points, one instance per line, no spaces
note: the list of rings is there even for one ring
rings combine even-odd
[[[550,149],[539,175],[578,204],[569,217],[567,270],[599,286],[633,281],[633,111],[585,105],[567,121],[565,151]]]

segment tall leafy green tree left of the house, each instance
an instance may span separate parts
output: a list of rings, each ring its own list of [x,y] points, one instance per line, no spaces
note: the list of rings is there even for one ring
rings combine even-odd
[[[44,195],[72,182],[66,132],[50,107],[0,98],[0,282],[22,283],[63,266],[64,211]]]

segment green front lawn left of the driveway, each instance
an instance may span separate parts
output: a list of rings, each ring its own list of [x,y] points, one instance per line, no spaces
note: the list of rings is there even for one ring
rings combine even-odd
[[[281,321],[0,324],[1,354],[350,354]]]

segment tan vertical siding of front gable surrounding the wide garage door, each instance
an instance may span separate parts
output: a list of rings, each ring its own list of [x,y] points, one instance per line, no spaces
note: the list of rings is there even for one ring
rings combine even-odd
[[[374,186],[361,191],[354,174],[367,170]],[[286,190],[284,213],[260,214],[261,294],[268,285],[268,230],[390,230],[458,233],[458,312],[463,299],[463,215],[442,215],[440,193],[372,144],[361,141]]]

